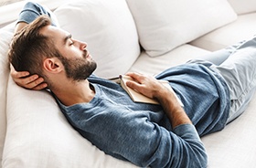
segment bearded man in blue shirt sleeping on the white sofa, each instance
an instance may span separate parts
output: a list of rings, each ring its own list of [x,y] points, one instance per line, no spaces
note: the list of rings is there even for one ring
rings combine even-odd
[[[29,7],[23,15],[45,11],[40,5]],[[119,84],[92,75],[96,63],[87,44],[51,26],[47,16],[32,23],[19,20],[16,30],[21,31],[9,52],[11,64],[23,71],[13,68],[15,81],[30,89],[48,87],[83,137],[107,154],[139,166],[206,167],[199,136],[219,131],[238,117],[255,91],[253,40],[229,47],[232,52],[221,51],[229,58],[220,65],[195,60],[166,69],[156,79],[128,73],[135,81],[127,86],[160,102],[153,105],[134,103]],[[169,81],[184,108],[157,79]]]

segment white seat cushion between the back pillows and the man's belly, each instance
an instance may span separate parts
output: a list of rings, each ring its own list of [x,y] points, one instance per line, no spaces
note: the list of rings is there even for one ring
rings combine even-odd
[[[210,52],[205,49],[191,45],[176,47],[165,55],[154,58],[147,55],[146,52],[142,52],[141,56],[136,60],[129,71],[155,75],[166,68],[185,63],[192,58],[203,58],[203,56],[208,53]]]

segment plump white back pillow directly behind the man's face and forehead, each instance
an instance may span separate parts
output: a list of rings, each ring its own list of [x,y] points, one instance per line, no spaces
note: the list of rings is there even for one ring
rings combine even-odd
[[[54,13],[61,28],[87,42],[98,63],[95,74],[102,78],[127,72],[140,54],[133,16],[125,0],[81,0]]]

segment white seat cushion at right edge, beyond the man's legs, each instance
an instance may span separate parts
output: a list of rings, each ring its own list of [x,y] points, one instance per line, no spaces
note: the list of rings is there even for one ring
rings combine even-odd
[[[190,44],[210,51],[240,42],[256,34],[256,13],[238,16],[238,19],[227,26],[220,27]]]

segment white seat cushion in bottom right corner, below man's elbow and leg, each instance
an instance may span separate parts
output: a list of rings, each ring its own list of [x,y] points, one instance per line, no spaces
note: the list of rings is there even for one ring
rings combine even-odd
[[[209,167],[255,167],[256,95],[249,107],[222,131],[202,138],[208,152]]]

